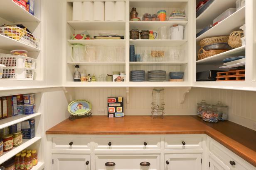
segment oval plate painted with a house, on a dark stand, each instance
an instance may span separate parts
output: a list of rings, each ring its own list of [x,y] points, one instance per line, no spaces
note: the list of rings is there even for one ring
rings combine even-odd
[[[68,105],[68,111],[71,115],[85,115],[91,111],[91,103],[86,100],[71,101]]]

